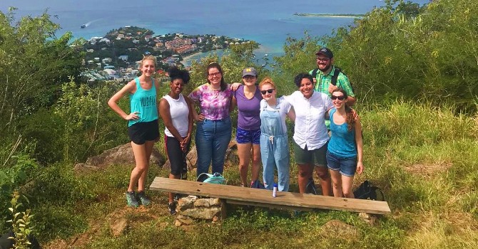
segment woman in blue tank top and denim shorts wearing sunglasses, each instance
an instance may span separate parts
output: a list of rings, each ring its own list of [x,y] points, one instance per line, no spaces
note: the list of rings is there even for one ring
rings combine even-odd
[[[347,105],[347,92],[332,91],[335,108],[329,110],[330,142],[327,147],[327,166],[332,176],[335,197],[354,198],[352,184],[355,171],[362,174],[362,124],[357,112]]]

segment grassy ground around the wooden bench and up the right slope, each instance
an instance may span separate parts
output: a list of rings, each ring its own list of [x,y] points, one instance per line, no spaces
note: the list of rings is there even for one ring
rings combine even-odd
[[[91,240],[79,248],[476,248],[477,117],[456,113],[453,107],[403,101],[357,109],[364,127],[365,174],[357,176],[355,184],[369,179],[380,186],[392,209],[375,226],[349,212],[295,215],[228,206],[222,225],[199,223],[183,231],[172,225],[164,193],[151,193],[153,206],[146,211],[125,208],[123,192],[131,166],[77,176],[67,165],[56,164],[37,179],[42,186],[33,192],[54,196],[33,201],[36,233],[43,242],[75,238],[95,224]],[[423,170],[417,170],[420,166]],[[291,189],[297,191],[293,157],[290,171]],[[151,169],[148,182],[167,174]],[[230,161],[224,175],[229,184],[240,183],[237,161]],[[112,213],[131,222],[118,238],[110,233]],[[355,226],[357,238],[324,233],[321,226],[332,219]]]

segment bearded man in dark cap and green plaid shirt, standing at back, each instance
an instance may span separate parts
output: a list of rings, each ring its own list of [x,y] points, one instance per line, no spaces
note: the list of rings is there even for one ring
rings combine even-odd
[[[315,91],[323,92],[327,95],[332,95],[333,90],[337,88],[342,88],[347,92],[347,105],[351,106],[355,104],[357,100],[355,98],[355,94],[352,90],[352,85],[350,85],[350,81],[347,78],[347,75],[342,73],[340,69],[336,68],[334,63],[334,54],[328,48],[320,48],[317,53],[316,63],[318,70],[310,70],[309,74],[314,77],[315,83]],[[314,75],[314,71],[316,71],[316,75]],[[336,72],[337,71],[337,72]],[[337,77],[337,82],[335,85],[332,84],[332,78],[334,75]],[[327,124],[327,122],[325,122]],[[327,124],[327,127],[329,125]]]

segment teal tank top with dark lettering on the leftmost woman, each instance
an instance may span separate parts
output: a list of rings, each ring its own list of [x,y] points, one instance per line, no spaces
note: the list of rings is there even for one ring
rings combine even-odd
[[[139,78],[134,79],[136,82],[136,92],[129,95],[131,112],[139,112],[138,120],[129,120],[128,127],[138,122],[151,122],[158,120],[158,107],[156,107],[156,85],[154,79],[151,79],[151,89],[144,90],[141,88]]]

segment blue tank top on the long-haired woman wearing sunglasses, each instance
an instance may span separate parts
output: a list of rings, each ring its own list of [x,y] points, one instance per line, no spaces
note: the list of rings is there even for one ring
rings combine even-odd
[[[334,113],[337,109],[330,110],[330,137],[327,150],[337,157],[357,157],[357,144],[355,144],[355,129],[350,132],[347,122],[337,125],[334,122]]]

